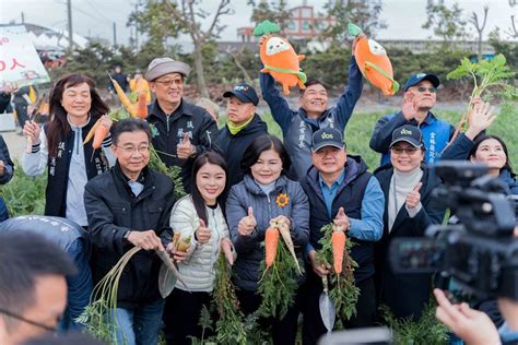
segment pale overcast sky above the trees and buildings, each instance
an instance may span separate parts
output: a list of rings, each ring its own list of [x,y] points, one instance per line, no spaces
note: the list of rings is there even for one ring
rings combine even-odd
[[[117,43],[128,44],[131,33],[126,23],[138,1],[144,2],[143,0],[72,0],[73,31],[83,36],[102,37],[113,41],[113,23],[115,22]],[[217,0],[202,2],[208,10],[215,10],[219,3]],[[303,0],[287,2],[295,7],[302,4]],[[323,0],[307,0],[308,4],[315,5],[320,11],[323,2]],[[446,5],[451,5],[454,2],[454,0],[445,0]],[[490,5],[485,34],[495,26],[502,29],[510,27],[513,13],[518,20],[518,4],[511,8],[509,0],[458,0],[457,2],[464,10],[464,14],[475,11],[482,15],[483,7]],[[0,23],[10,21],[20,23],[23,12],[27,23],[66,29],[66,0],[0,0]],[[222,39],[236,40],[236,29],[250,25],[251,8],[246,3],[246,0],[232,0],[232,7],[237,14],[234,14],[232,20],[228,16],[225,19],[228,26],[223,32]],[[388,27],[379,32],[377,38],[424,39],[432,36],[432,32],[421,28],[426,16],[426,0],[385,0],[384,3],[381,19]]]

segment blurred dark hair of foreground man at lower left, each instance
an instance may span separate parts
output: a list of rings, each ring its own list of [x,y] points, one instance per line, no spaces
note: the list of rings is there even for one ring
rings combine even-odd
[[[58,245],[28,231],[0,233],[0,309],[16,314],[35,302],[36,278],[76,273],[72,259]],[[13,318],[4,320],[8,331],[17,324]]]

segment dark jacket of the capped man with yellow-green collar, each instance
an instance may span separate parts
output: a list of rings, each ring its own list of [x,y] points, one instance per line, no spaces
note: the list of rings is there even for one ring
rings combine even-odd
[[[234,186],[243,180],[242,159],[245,151],[257,138],[268,134],[268,127],[259,115],[235,135],[223,127],[217,134],[217,147],[221,150],[228,168],[228,186]]]

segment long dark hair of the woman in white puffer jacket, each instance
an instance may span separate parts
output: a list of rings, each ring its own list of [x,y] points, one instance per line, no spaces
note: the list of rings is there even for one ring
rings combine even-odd
[[[198,171],[205,165],[205,164],[214,164],[220,166],[225,171],[225,188],[223,192],[217,195],[216,202],[223,207],[224,206],[224,195],[225,191],[228,189],[228,170],[226,167],[225,158],[223,158],[219,153],[214,151],[207,151],[196,157],[195,162],[192,163],[192,178],[195,179],[191,186],[191,198],[192,203],[195,204],[196,213],[198,216],[205,222],[205,225],[209,225],[208,216],[207,216],[207,209],[205,209],[205,201],[201,197],[200,190],[196,185],[196,176]]]

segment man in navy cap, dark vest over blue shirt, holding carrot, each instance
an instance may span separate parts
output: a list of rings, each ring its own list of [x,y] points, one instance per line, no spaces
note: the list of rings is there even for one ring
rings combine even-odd
[[[385,198],[378,180],[367,171],[360,156],[348,155],[342,134],[332,128],[320,129],[313,134],[313,166],[302,186],[310,205],[308,265],[306,267],[306,305],[304,310],[304,344],[316,344],[326,333],[319,312],[321,277],[331,273],[331,266],[316,259],[323,225],[334,223],[355,242],[352,258],[358,267],[354,270],[360,297],[356,314],[342,320],[345,328],[369,326],[376,316],[374,284],[374,242],[382,235]]]

